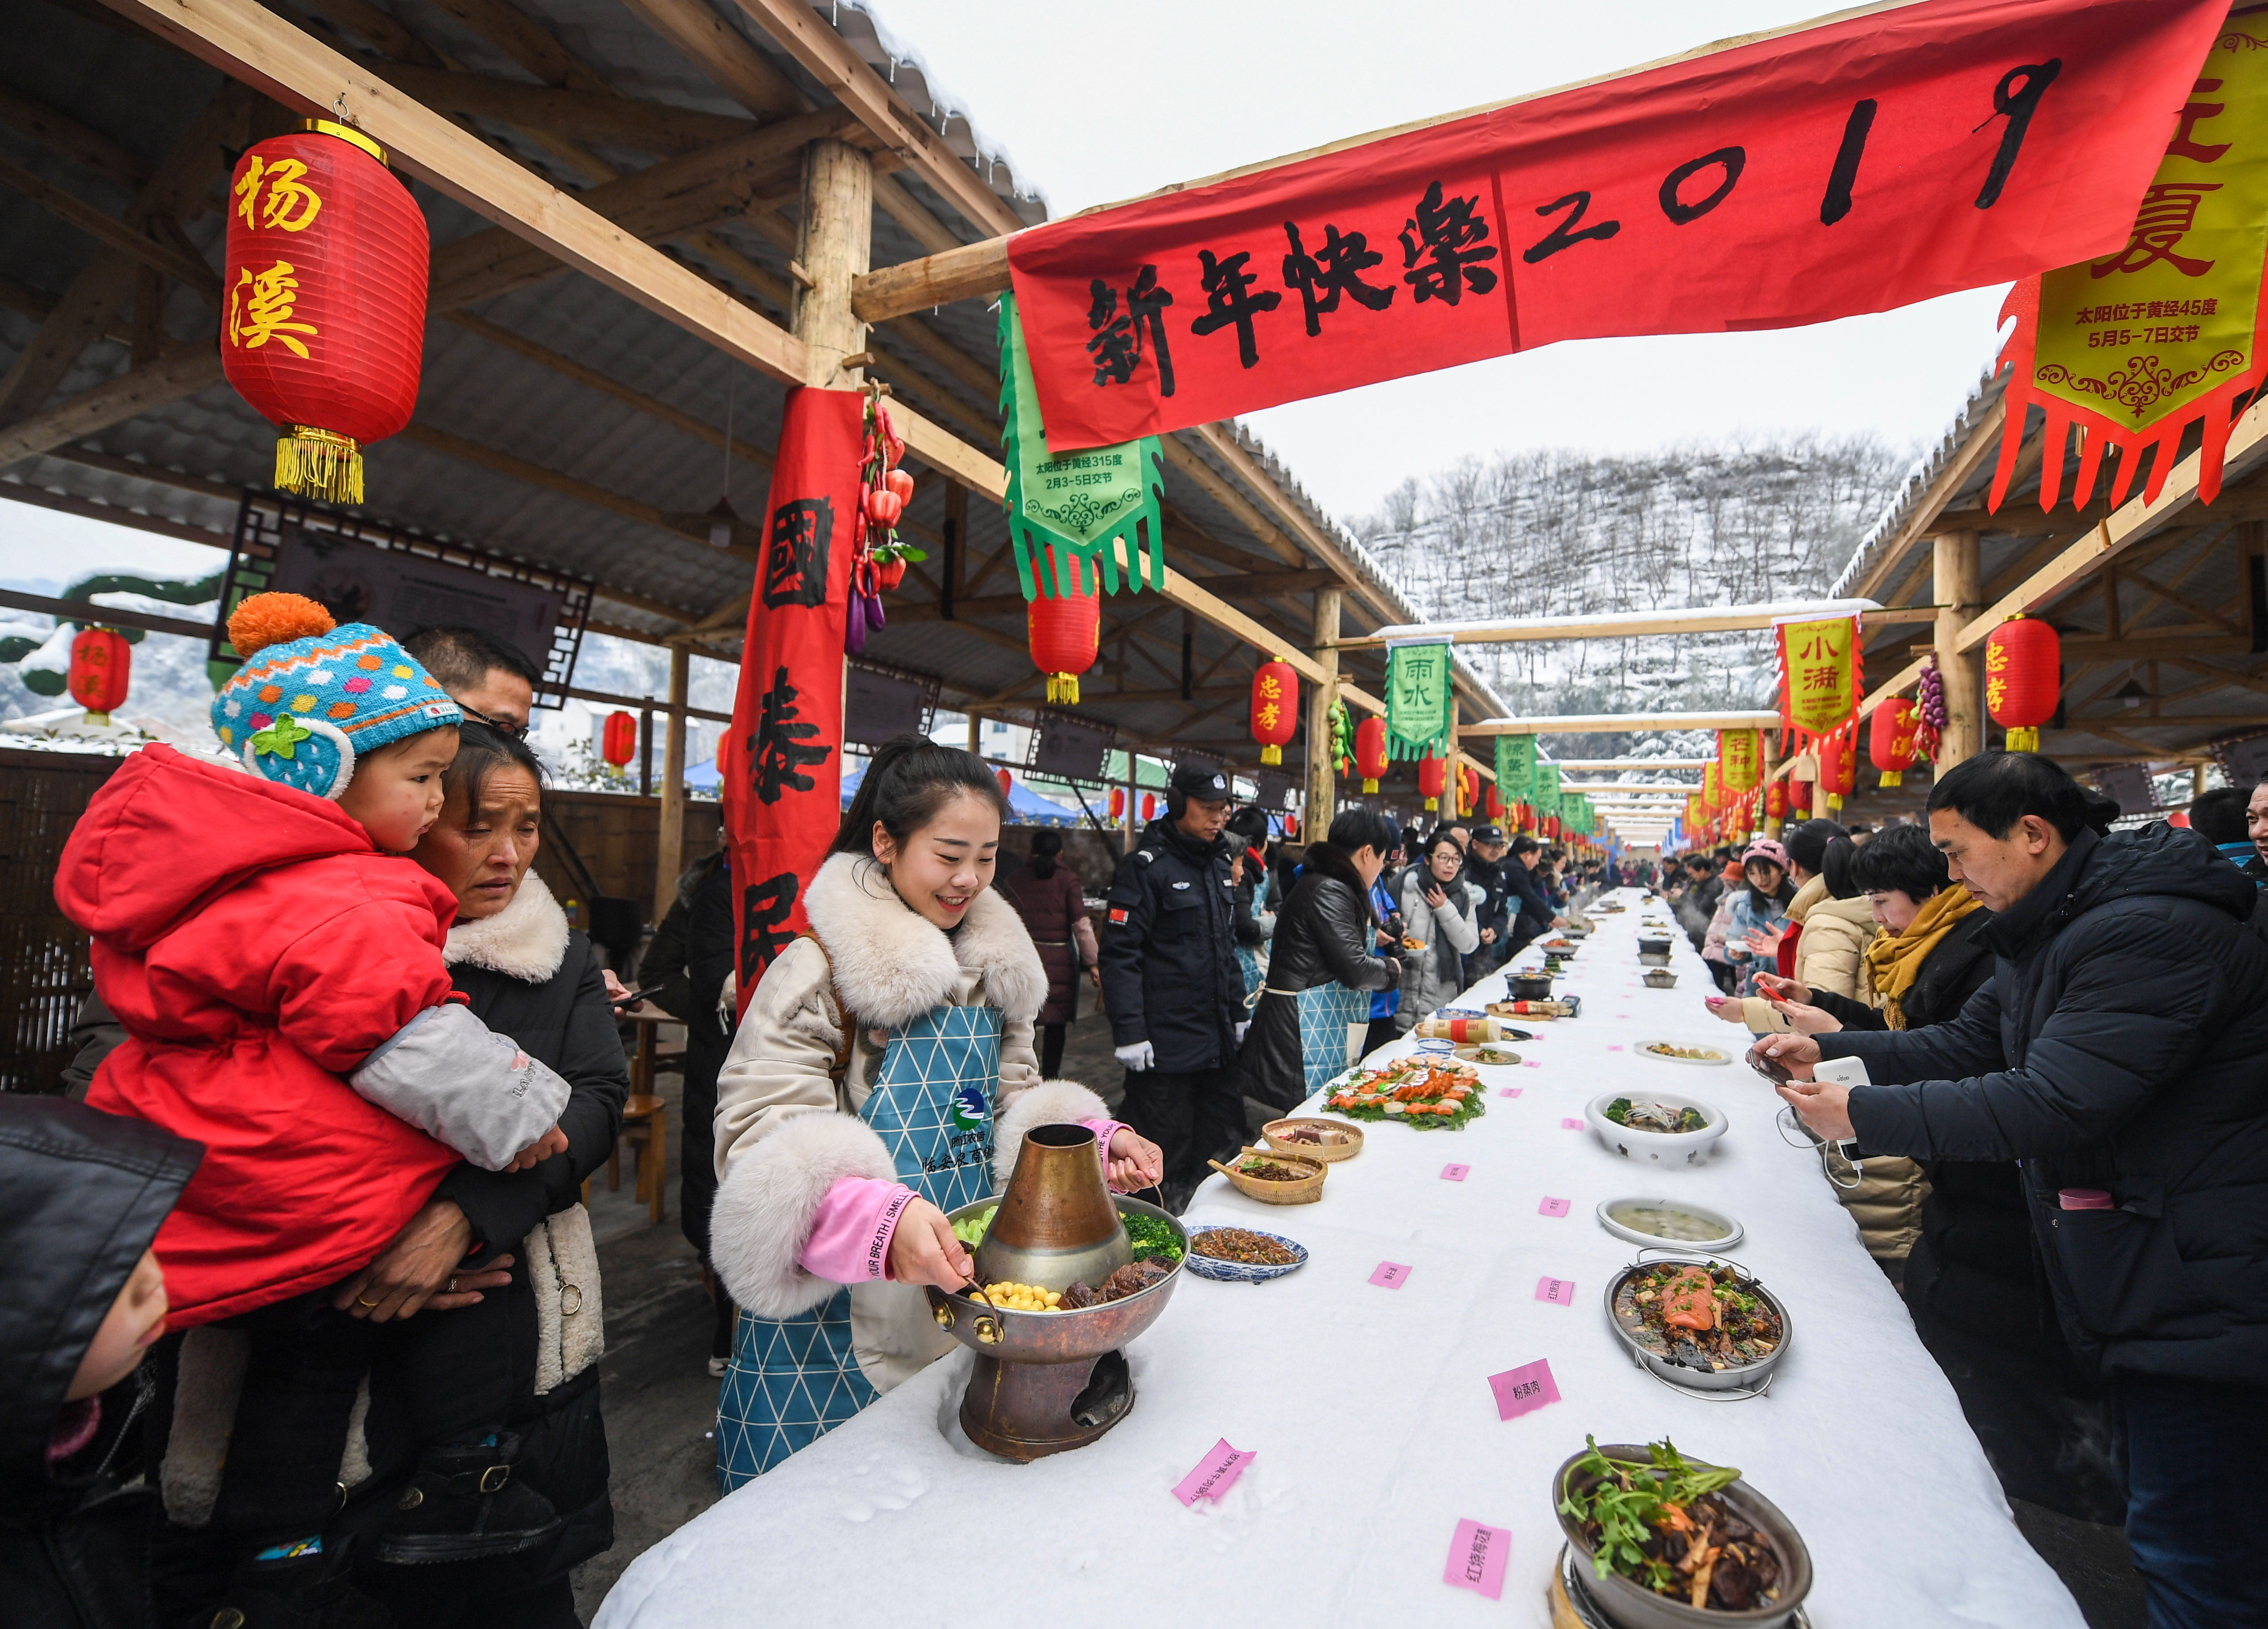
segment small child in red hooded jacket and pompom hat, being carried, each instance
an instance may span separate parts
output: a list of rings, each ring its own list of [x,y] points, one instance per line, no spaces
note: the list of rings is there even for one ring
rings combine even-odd
[[[54,894],[127,1030],[88,1105],[206,1148],[156,1252],[172,1327],[252,1336],[211,1518],[252,1565],[234,1602],[342,1561],[315,1534],[374,1352],[424,1445],[383,1559],[508,1554],[558,1529],[510,1486],[499,1436],[506,1298],[372,1330],[331,1289],[458,1157],[499,1171],[562,1150],[567,1082],[454,1001],[456,896],[399,858],[440,814],[456,703],[386,633],[297,594],[254,594],[229,640],[245,665],[213,731],[243,771],[134,753],[79,817]]]

